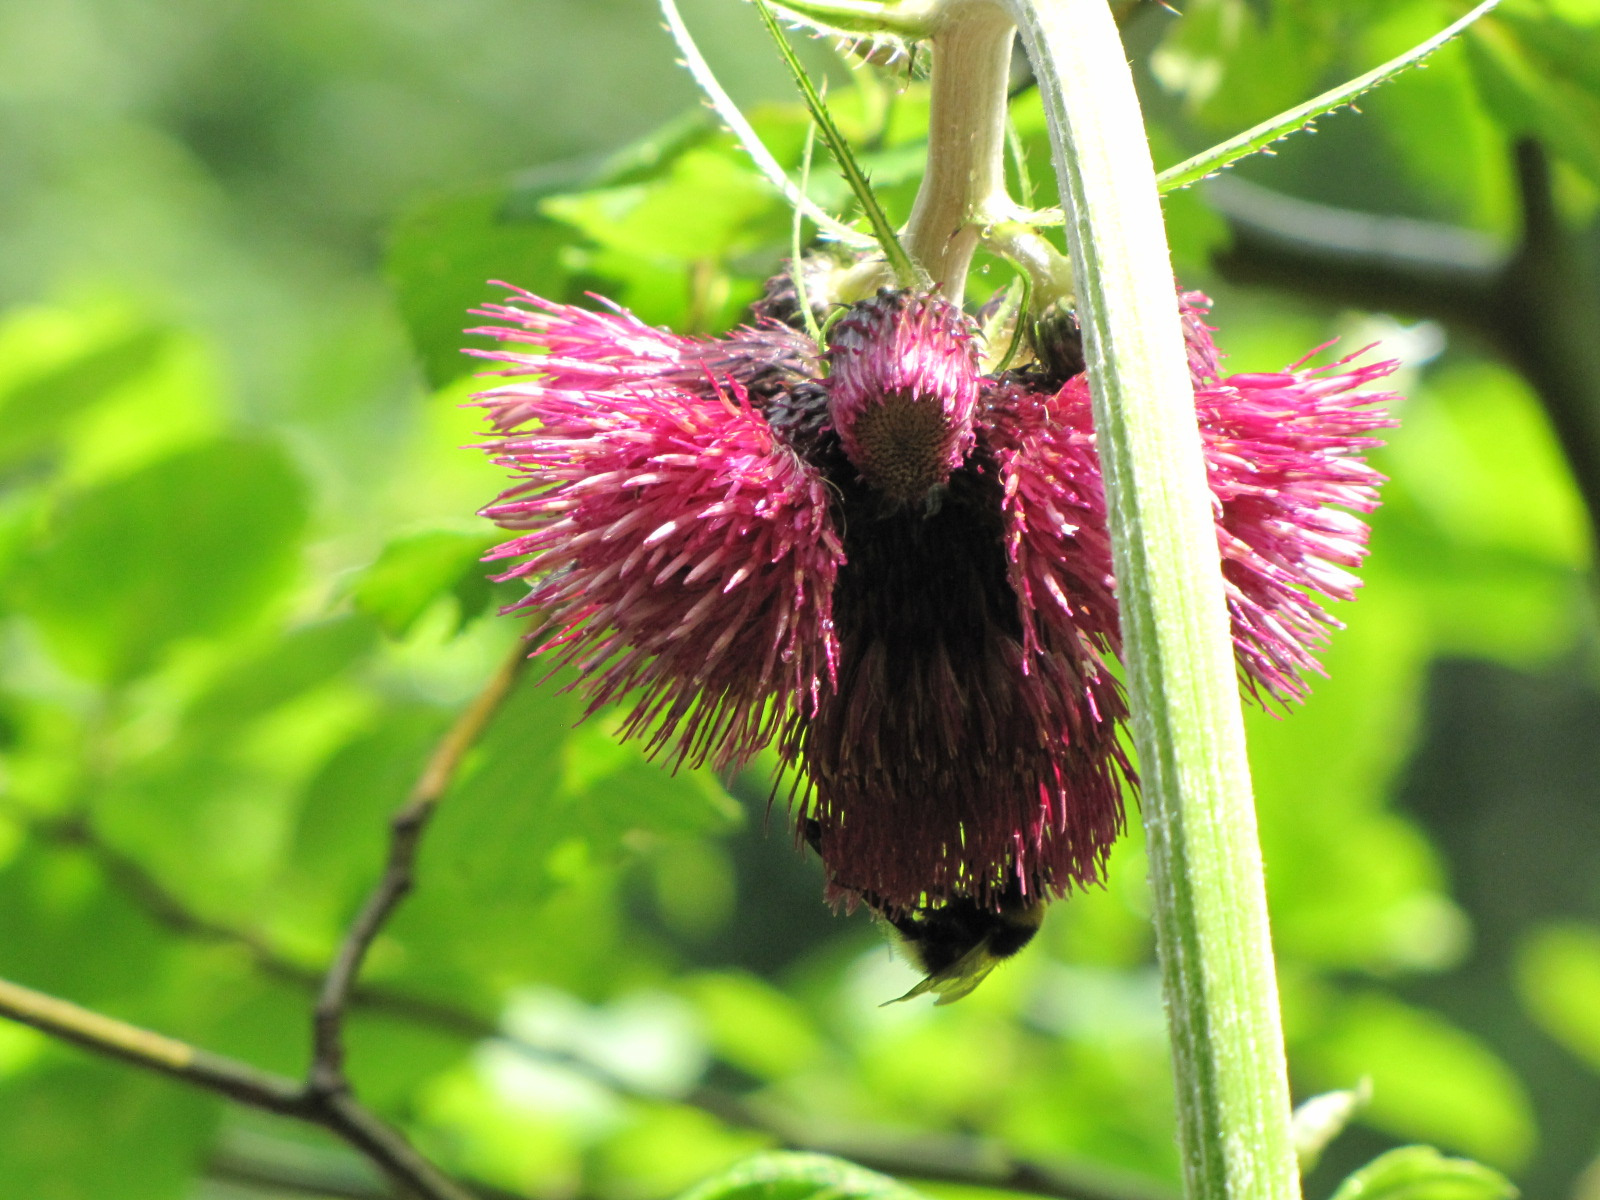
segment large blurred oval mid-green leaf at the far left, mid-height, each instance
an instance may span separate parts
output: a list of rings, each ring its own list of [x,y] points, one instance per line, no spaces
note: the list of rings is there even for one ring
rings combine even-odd
[[[18,563],[18,608],[72,670],[126,680],[235,629],[290,582],[306,485],[266,442],[182,451],[69,498]]]

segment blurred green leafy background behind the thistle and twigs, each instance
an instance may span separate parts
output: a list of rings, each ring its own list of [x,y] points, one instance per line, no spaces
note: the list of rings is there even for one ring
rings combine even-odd
[[[1166,165],[1461,6],[1134,8]],[[1504,8],[1363,115],[1238,173],[1510,240],[1509,146],[1536,134],[1565,219],[1592,221],[1600,3]],[[798,163],[803,110],[754,14],[686,10]],[[904,218],[922,86],[808,53]],[[1016,123],[1048,198],[1030,96]],[[786,253],[789,214],[696,109],[643,0],[0,3],[0,974],[298,1074],[296,979],[522,632],[493,616],[517,589],[477,563],[493,534],[472,512],[499,478],[464,448],[466,310],[504,278],[722,330]],[[821,165],[813,190],[843,208]],[[1562,448],[1485,347],[1230,290],[1206,267],[1227,242],[1206,189],[1168,211],[1235,368],[1334,336],[1406,363],[1328,678],[1302,710],[1251,715],[1294,1086],[1373,1083],[1309,1194],[1427,1141],[1592,1200],[1600,694],[1592,522]],[[382,992],[352,1018],[358,1090],[440,1163],[534,1197],[648,1200],[781,1142],[898,1154],[915,1176],[923,1147],[976,1139],[986,1162],[1003,1146],[1174,1194],[1136,832],[1106,888],[1058,906],[970,1000],[880,1008],[910,968],[864,917],[822,909],[760,771],[731,790],[664,773],[541,675],[448,795],[374,947]],[[1360,1195],[1502,1195],[1482,1168],[1403,1154]],[[302,1130],[0,1026],[3,1200],[234,1200],[290,1178],[376,1186]],[[904,1195],[795,1178],[704,1200]]]

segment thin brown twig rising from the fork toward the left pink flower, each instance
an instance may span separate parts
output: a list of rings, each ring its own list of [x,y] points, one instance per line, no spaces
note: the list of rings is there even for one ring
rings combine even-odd
[[[416,851],[427,819],[450,789],[461,760],[494,720],[526,664],[526,646],[518,640],[483,691],[438,742],[410,798],[389,822],[389,861],[384,874],[350,925],[317,997],[312,1014],[312,1064],[307,1075],[307,1083],[315,1091],[336,1096],[349,1090],[344,1075],[344,1013],[362,962],[379,930],[416,882]]]

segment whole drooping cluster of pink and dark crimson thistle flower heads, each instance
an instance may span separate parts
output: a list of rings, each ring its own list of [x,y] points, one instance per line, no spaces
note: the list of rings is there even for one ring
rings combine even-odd
[[[1242,678],[1304,694],[1376,506],[1394,363],[1222,376],[1182,298]],[[824,350],[683,338],[517,291],[475,330],[517,477],[486,515],[541,650],[674,763],[803,770],[830,896],[998,912],[1101,877],[1126,715],[1088,382],[984,376],[971,322],[883,291]],[[530,352],[523,347],[536,347]]]

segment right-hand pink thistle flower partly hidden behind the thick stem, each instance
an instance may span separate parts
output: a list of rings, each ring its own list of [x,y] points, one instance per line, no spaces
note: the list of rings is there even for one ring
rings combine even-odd
[[[1202,322],[1210,299],[1181,301],[1240,677],[1253,696],[1304,699],[1304,675],[1320,672],[1315,651],[1339,627],[1315,597],[1352,600],[1358,587],[1350,570],[1366,557],[1368,530],[1355,514],[1378,507],[1382,483],[1362,454],[1394,426],[1382,406],[1395,395],[1371,386],[1397,363],[1341,371],[1350,355],[1323,368],[1224,378]],[[995,414],[1010,437],[1030,440],[1006,493],[1014,530],[1026,530],[1013,533],[1013,589],[1051,597],[1042,616],[1061,622],[1070,611],[1120,653],[1115,600],[1088,587],[1110,570],[1110,542],[1086,376],[1054,395],[1013,392]]]

